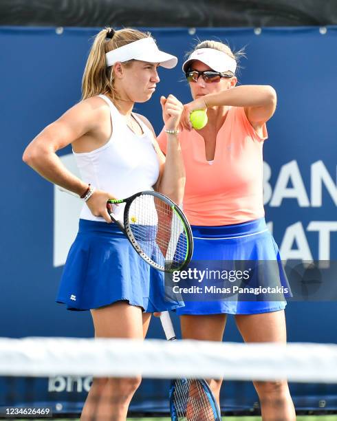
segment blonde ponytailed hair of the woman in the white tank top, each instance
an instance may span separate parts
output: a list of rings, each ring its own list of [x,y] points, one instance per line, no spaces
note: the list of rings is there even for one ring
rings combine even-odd
[[[83,73],[82,100],[98,94],[109,94],[112,100],[118,98],[116,89],[113,86],[113,66],[107,67],[105,54],[148,36],[151,36],[149,32],[145,33],[132,28],[124,28],[117,31],[114,31],[112,28],[105,28],[98,32],[91,46]],[[123,63],[123,65],[128,66],[130,63],[131,60]]]

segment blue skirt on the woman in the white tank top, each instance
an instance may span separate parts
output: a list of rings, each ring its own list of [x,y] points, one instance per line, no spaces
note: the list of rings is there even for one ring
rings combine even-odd
[[[184,305],[166,295],[164,274],[139,257],[116,224],[80,219],[56,302],[68,310],[90,310],[116,301],[144,312]]]

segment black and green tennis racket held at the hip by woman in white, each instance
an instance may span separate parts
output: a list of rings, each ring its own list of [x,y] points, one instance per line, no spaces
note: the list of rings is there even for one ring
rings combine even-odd
[[[107,206],[111,220],[150,266],[162,272],[174,272],[184,269],[191,261],[191,226],[171,199],[156,191],[142,191],[127,199],[109,199],[107,204],[114,205],[113,211]]]

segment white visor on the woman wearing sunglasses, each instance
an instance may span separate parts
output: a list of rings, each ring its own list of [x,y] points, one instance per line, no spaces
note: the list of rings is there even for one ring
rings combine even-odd
[[[229,70],[235,74],[235,70],[237,69],[237,62],[234,58],[228,56],[228,54],[215,50],[214,48],[198,48],[193,51],[191,56],[182,65],[183,72],[188,70],[189,65],[194,60],[202,61],[202,63],[208,65],[215,72],[223,73]]]

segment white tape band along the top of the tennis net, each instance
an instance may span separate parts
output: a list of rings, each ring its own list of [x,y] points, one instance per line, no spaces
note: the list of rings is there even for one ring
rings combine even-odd
[[[337,383],[337,345],[0,338],[0,376],[56,375]]]

